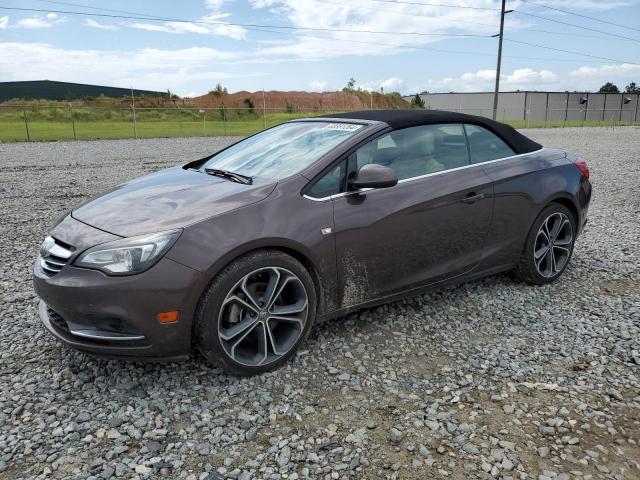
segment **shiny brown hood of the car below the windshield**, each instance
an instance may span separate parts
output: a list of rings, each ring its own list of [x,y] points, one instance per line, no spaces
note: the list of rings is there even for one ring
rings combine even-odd
[[[244,185],[182,167],[145,175],[73,210],[73,218],[130,237],[186,227],[266,198],[276,182]]]

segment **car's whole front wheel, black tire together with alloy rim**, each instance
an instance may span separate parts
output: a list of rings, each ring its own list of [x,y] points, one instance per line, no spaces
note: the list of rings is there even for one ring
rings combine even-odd
[[[233,375],[275,370],[309,335],[316,298],[309,271],[290,255],[257,250],[242,256],[216,276],[200,300],[198,349]]]

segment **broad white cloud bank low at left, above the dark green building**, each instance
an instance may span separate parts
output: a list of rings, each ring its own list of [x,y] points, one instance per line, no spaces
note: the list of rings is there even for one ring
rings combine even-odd
[[[175,50],[143,48],[66,50],[46,43],[0,43],[0,72],[7,80],[51,79],[176,93],[191,92],[194,82],[258,77],[260,72],[235,74],[212,70],[215,62],[234,62],[238,54],[209,47]]]

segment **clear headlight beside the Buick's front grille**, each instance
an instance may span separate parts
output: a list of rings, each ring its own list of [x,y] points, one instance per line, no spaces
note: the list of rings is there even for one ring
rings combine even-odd
[[[144,272],[162,258],[180,233],[182,230],[171,230],[96,245],[83,252],[74,265],[102,270],[108,275]]]

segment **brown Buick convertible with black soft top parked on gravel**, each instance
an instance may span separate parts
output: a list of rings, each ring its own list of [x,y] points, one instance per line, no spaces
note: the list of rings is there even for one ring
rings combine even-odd
[[[567,267],[591,198],[583,160],[481,117],[366,111],[287,122],[73,210],[34,267],[74,348],[249,375],[314,323],[426,289]]]

